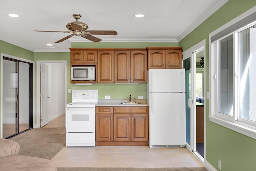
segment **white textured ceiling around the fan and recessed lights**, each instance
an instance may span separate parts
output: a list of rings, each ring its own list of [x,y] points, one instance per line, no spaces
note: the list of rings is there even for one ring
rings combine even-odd
[[[117,36],[97,35],[102,42],[178,42],[227,0],[3,0],[0,3],[0,40],[33,52],[69,52],[71,42],[90,42],[69,34],[34,32],[68,31],[66,24],[80,22],[88,30],[116,30]],[[8,14],[20,15],[11,18]],[[135,18],[134,14],[145,14]],[[70,42],[71,41],[71,42]],[[50,48],[46,44],[54,44]]]

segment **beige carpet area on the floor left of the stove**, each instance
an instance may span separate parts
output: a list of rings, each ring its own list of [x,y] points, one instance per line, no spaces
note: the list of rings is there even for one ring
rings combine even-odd
[[[20,145],[20,155],[52,159],[66,142],[65,128],[34,128],[10,138]]]

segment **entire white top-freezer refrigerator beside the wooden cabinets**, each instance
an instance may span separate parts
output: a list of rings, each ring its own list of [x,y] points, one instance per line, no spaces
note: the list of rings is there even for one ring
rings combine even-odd
[[[185,69],[149,69],[149,147],[185,147]]]

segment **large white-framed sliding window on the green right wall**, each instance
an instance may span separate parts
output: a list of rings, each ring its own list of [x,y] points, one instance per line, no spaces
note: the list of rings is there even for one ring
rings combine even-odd
[[[256,12],[234,20],[210,34],[209,117],[256,139]]]

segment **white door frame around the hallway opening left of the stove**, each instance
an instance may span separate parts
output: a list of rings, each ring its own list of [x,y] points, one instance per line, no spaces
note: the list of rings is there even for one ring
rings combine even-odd
[[[64,89],[65,92],[67,92],[67,61],[64,60],[52,60],[52,61],[36,61],[36,125],[34,127],[40,127],[40,64],[43,63],[63,63],[64,64],[64,70],[65,70],[65,84]],[[65,93],[65,106],[67,104],[67,93]],[[66,125],[66,124],[65,124]]]

